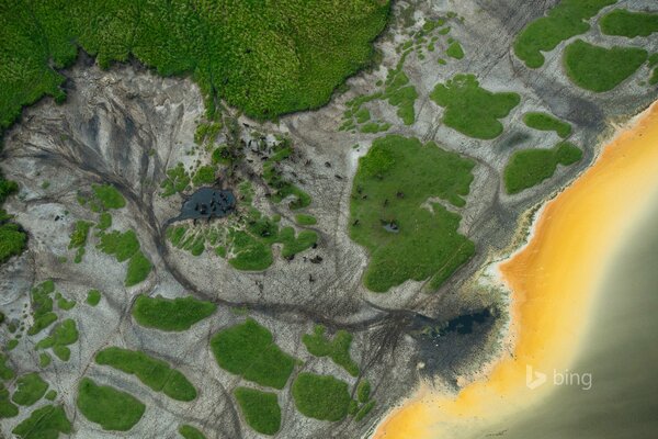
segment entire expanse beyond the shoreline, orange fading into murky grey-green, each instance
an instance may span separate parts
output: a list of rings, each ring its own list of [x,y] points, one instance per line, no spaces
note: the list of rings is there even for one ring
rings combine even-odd
[[[542,209],[527,244],[500,263],[512,294],[511,352],[457,395],[423,386],[374,438],[651,437],[657,323],[646,277],[656,278],[648,238],[657,238],[646,218],[656,205],[658,104]],[[529,367],[546,383],[531,390]],[[571,385],[556,385],[556,373]]]

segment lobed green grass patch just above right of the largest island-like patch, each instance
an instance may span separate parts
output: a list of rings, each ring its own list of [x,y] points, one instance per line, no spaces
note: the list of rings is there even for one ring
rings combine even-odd
[[[475,75],[455,75],[439,83],[430,98],[445,108],[443,123],[469,137],[492,139],[503,130],[507,117],[521,98],[517,93],[494,93],[479,87]]]

